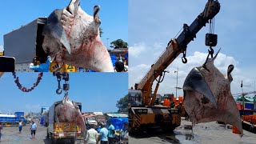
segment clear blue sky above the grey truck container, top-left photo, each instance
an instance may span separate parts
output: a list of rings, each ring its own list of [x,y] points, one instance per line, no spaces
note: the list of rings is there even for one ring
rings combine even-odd
[[[3,44],[3,35],[12,30],[18,29],[22,25],[34,21],[38,17],[47,17],[55,9],[63,9],[70,0],[8,0],[1,3],[2,13],[0,14],[0,46]],[[101,18],[104,34],[102,42],[107,46],[106,38],[110,38],[108,43],[122,38],[128,40],[128,2],[127,0],[81,0],[82,10],[92,15],[95,5],[101,6],[99,17]]]

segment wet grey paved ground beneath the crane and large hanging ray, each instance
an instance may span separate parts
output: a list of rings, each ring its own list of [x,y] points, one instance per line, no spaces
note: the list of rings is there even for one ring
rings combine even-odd
[[[159,129],[151,129],[149,132],[141,132],[130,136],[129,143],[132,144],[153,144],[153,143],[256,143],[256,134],[244,130],[241,138],[238,134],[233,134],[232,129],[216,122],[197,124],[192,130],[184,129],[186,125],[191,126],[191,122],[182,120],[182,125],[174,130],[174,133],[166,134]]]

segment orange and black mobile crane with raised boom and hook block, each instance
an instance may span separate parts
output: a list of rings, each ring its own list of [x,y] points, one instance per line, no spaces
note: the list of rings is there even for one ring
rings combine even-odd
[[[166,50],[151,66],[144,78],[135,84],[135,90],[129,90],[130,131],[145,130],[153,126],[160,126],[162,130],[172,131],[177,126],[180,126],[181,117],[177,109],[172,109],[170,106],[154,104],[158,86],[167,72],[166,67],[169,66],[179,54],[183,53],[182,62],[187,62],[186,46],[194,40],[198,31],[201,30],[203,26],[206,26],[207,22],[211,22],[211,19],[218,14],[219,10],[219,2],[217,0],[209,0],[206,3],[205,10],[198,15],[198,18],[196,18],[190,26],[184,24],[183,31],[178,35],[178,38],[170,40]],[[216,34],[210,34],[210,36],[217,38]],[[215,38],[209,37],[209,34],[206,34],[206,43],[214,40]],[[206,46],[208,45],[206,44]],[[214,46],[214,44],[211,44],[211,46]],[[157,84],[154,88],[154,94],[152,94],[154,81],[157,81]]]

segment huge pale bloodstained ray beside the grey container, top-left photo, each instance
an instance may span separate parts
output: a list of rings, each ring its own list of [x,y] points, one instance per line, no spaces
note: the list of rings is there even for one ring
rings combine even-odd
[[[92,17],[81,9],[80,0],[71,0],[65,9],[50,14],[42,32],[42,48],[52,61],[95,71],[114,71],[110,54],[99,37],[99,10],[99,6],[94,6]]]

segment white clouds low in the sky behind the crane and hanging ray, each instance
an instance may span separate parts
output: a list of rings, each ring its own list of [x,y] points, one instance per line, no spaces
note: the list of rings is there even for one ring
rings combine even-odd
[[[136,45],[134,45],[136,46]],[[147,47],[145,44],[143,45]],[[156,47],[156,46],[153,46]],[[151,51],[151,50],[150,50]],[[152,50],[151,52],[147,52],[143,54],[140,59],[145,59],[146,61],[136,61],[130,63],[130,71],[129,71],[129,86],[134,86],[136,82],[139,82],[143,76],[146,74],[147,70],[150,69],[150,66],[154,63],[154,60],[158,58],[155,57],[155,53]],[[161,51],[161,50],[160,50]],[[217,53],[217,51],[215,52]],[[183,82],[189,74],[190,70],[194,66],[202,66],[202,64],[206,61],[206,53],[194,52],[193,55],[187,56],[188,62],[186,64],[182,63],[182,59],[180,57],[176,58],[174,62],[170,64],[166,68],[170,73],[166,74],[164,81],[160,84],[158,89],[158,94],[175,94],[175,86],[176,86],[176,73],[174,70],[178,69],[178,86],[182,87]],[[250,70],[241,70],[239,67],[239,62],[236,61],[233,57],[222,54],[221,51],[218,54],[218,57],[214,61],[214,66],[218,68],[222,72],[222,74],[226,74],[227,67],[233,64],[234,71],[232,72],[232,76],[234,78],[233,82],[231,82],[231,93],[241,93],[242,89],[240,87],[241,81],[243,80],[243,89],[244,91],[252,91],[254,90],[254,69]],[[154,83],[155,86],[155,83]],[[153,86],[153,90],[154,90]],[[183,95],[182,90],[178,90],[178,95]]]

